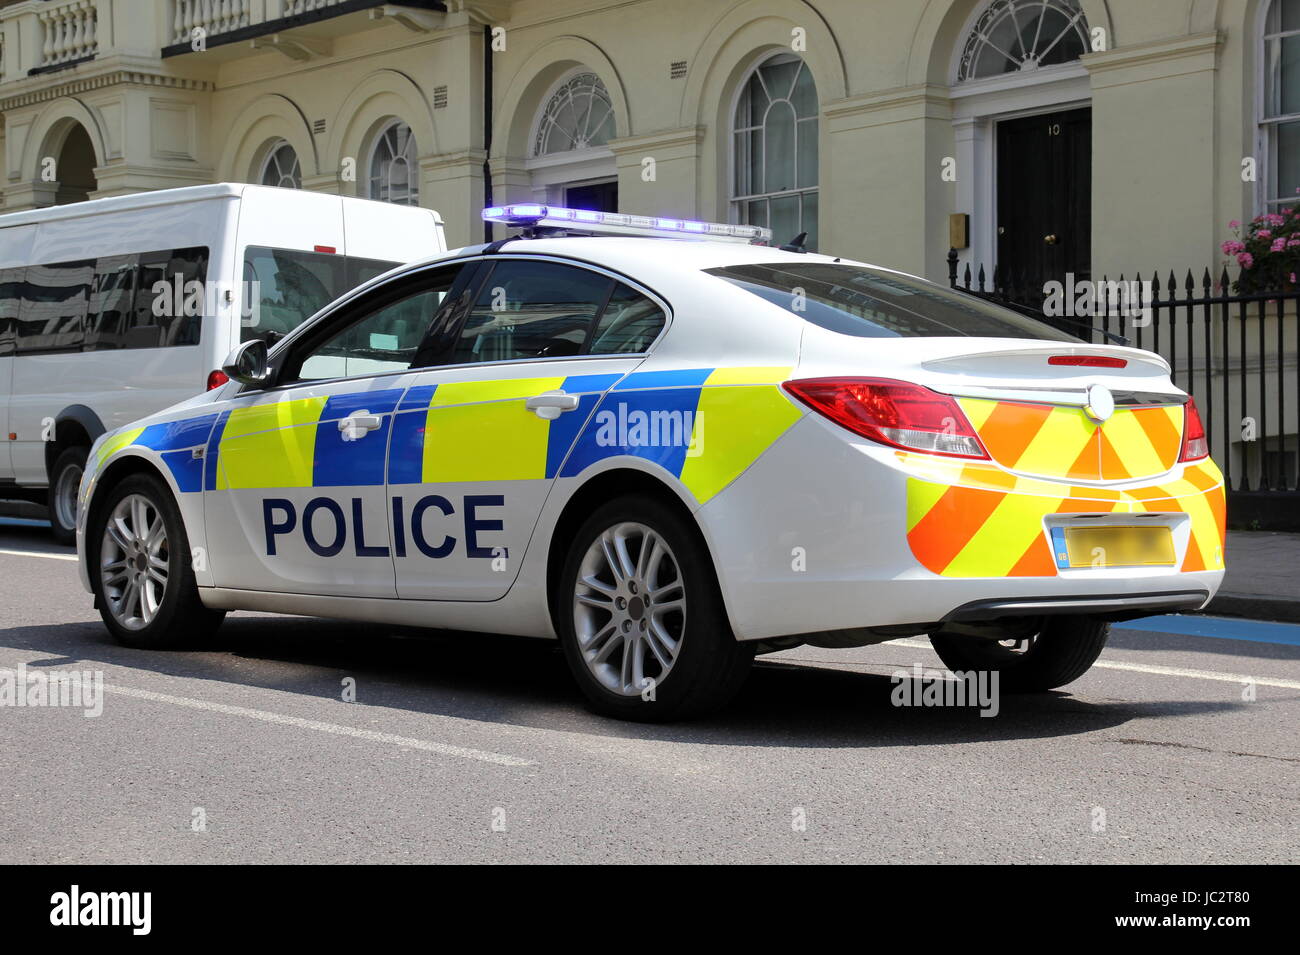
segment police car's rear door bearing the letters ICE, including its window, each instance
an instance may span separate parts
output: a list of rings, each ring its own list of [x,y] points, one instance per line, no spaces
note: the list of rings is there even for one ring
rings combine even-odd
[[[644,360],[667,313],[607,272],[489,260],[416,373],[389,451],[402,598],[495,600],[602,396]]]

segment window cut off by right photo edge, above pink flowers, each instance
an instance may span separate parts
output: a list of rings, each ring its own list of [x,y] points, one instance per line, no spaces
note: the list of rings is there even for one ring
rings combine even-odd
[[[1273,0],[1264,19],[1265,207],[1300,199],[1300,0]]]

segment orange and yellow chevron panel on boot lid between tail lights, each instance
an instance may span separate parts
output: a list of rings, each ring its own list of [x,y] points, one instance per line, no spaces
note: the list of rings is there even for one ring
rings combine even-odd
[[[1183,407],[1118,408],[1097,425],[1082,408],[984,398],[957,399],[989,456],[1022,474],[1072,481],[1131,481],[1178,461]]]

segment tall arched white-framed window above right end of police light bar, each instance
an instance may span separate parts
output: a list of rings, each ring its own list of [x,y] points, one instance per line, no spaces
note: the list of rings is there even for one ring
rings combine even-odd
[[[816,83],[797,56],[764,60],[745,81],[732,123],[732,213],[784,244],[807,233],[816,248]]]

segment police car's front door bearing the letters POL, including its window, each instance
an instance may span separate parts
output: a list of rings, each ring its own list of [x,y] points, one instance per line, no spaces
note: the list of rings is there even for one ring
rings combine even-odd
[[[459,272],[403,277],[344,304],[277,353],[272,387],[226,403],[204,491],[217,586],[395,595],[393,416]]]

